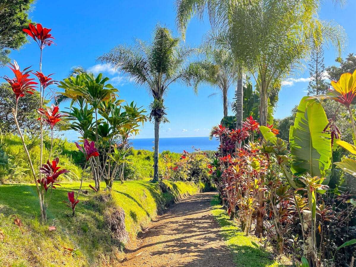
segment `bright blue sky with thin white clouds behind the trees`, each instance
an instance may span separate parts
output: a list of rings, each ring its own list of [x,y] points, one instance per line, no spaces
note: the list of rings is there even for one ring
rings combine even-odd
[[[335,20],[345,28],[348,34],[348,45],[343,53],[356,52],[356,36],[354,20],[356,1],[341,9],[334,7],[331,0],[325,1],[320,11],[320,18]],[[164,3],[164,4],[163,4]],[[137,89],[120,73],[96,62],[96,57],[108,52],[118,44],[131,44],[135,38],[150,40],[152,30],[157,22],[166,25],[178,35],[175,25],[176,12],[174,0],[147,1],[114,1],[87,0],[81,1],[44,1],[37,0],[30,17],[44,27],[52,28],[56,38],[56,46],[46,47],[43,55],[43,73],[55,73],[54,78],[65,78],[73,66],[81,65],[93,72],[104,72],[111,78],[111,83],[120,90],[120,99],[135,101],[139,106],[148,109],[152,101],[145,89]],[[208,20],[204,22],[193,19],[187,30],[186,42],[190,46],[198,46],[204,33],[209,30]],[[21,68],[32,65],[37,70],[39,49],[34,42],[27,43],[21,50],[11,53]],[[325,66],[335,64],[335,51],[325,48]],[[0,76],[12,75],[8,68],[0,68]],[[299,103],[306,94],[309,72],[299,73],[286,81],[279,93],[278,107],[275,117],[281,118],[290,114],[290,110]],[[220,96],[208,98],[216,92],[210,87],[201,87],[198,96],[192,88],[175,84],[168,92],[165,105],[170,123],[161,127],[161,137],[208,136],[212,126],[220,122],[223,106]],[[230,89],[229,99],[232,101],[234,88]],[[65,105],[61,106],[63,109]],[[229,111],[231,113],[231,111]],[[76,138],[74,131],[64,134],[70,140]],[[147,122],[136,138],[153,137],[153,124]]]

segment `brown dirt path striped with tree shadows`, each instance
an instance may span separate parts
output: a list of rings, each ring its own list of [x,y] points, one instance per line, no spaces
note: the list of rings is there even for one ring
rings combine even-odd
[[[142,235],[140,248],[128,252],[122,266],[235,266],[211,214],[214,192],[174,205]]]

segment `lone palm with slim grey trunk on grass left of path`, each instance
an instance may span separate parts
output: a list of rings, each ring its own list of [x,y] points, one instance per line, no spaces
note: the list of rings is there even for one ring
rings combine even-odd
[[[188,56],[193,52],[180,46],[180,39],[172,37],[165,27],[156,26],[150,43],[136,40],[135,46],[117,46],[100,56],[101,63],[108,63],[136,83],[145,87],[153,96],[150,117],[155,119],[155,153],[153,181],[158,181],[159,124],[166,121],[163,104],[169,86],[176,82],[189,84]]]

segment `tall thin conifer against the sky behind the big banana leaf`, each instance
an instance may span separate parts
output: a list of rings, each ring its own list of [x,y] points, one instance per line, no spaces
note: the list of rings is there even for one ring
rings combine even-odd
[[[325,94],[329,89],[329,83],[325,82],[325,65],[323,47],[316,47],[312,52],[309,64],[311,80],[308,85],[308,95]]]

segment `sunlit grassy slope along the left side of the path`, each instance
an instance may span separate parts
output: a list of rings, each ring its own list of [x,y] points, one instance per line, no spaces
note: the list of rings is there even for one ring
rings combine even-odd
[[[166,182],[168,183],[168,182]],[[83,184],[83,189],[89,183]],[[104,188],[104,184],[102,188]],[[168,183],[172,193],[162,193],[157,184],[146,181],[115,182],[112,190],[113,205],[125,210],[126,230],[131,236],[141,231],[157,210],[183,195],[199,191],[197,185],[182,182]],[[79,188],[79,182],[62,183],[53,190],[48,210],[48,223],[38,221],[38,201],[34,185],[8,184],[0,186],[0,229],[4,241],[0,241],[0,266],[86,266],[110,264],[120,251],[105,227],[103,209],[90,196],[80,196],[76,216],[62,201],[67,192]],[[90,190],[90,189],[89,189]],[[22,220],[24,234],[14,224],[16,214]],[[50,232],[48,225],[55,225]],[[75,248],[68,252],[63,247]]]

